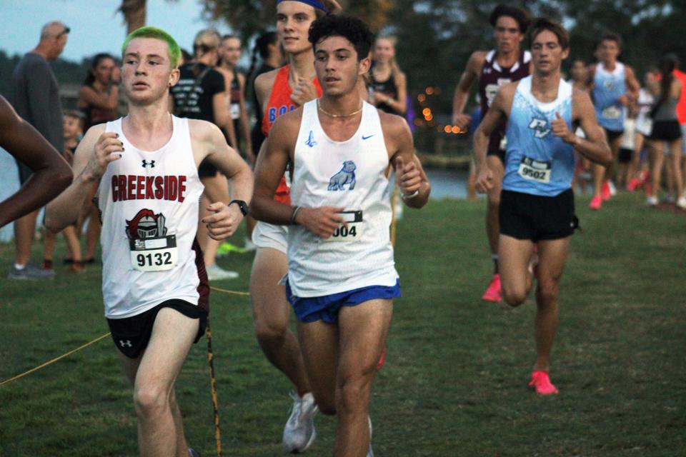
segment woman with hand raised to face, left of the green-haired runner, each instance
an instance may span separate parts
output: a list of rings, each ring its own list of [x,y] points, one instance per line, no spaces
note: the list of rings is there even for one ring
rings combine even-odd
[[[119,117],[117,106],[119,105],[119,67],[116,66],[114,57],[109,54],[96,54],[91,61],[91,69],[86,75],[84,84],[79,91],[77,106],[83,111],[84,131],[96,124],[104,124],[114,121]],[[79,216],[76,224],[76,234],[81,236],[84,224],[88,221],[86,229],[86,256],[84,263],[94,263],[98,240],[100,238],[100,218],[98,209],[92,199],[95,196],[95,187],[92,195],[86,199],[86,206]],[[69,228],[67,228],[69,230]],[[66,232],[65,232],[66,233]]]

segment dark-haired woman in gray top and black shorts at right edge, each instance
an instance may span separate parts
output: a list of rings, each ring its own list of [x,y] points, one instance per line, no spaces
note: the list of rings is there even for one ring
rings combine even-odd
[[[660,192],[660,179],[662,178],[662,164],[665,159],[665,150],[668,147],[678,197],[677,206],[686,209],[684,182],[681,177],[682,137],[681,127],[677,119],[677,103],[681,96],[682,85],[681,81],[674,76],[678,64],[679,60],[674,54],[663,56],[658,66],[660,81],[652,86],[652,92],[657,98],[657,102],[650,111],[653,121],[649,144],[650,155],[652,156],[652,193],[647,198],[647,204],[650,206],[657,204],[657,194]]]

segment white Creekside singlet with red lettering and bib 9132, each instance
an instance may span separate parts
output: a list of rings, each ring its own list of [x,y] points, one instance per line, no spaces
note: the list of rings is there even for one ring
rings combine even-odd
[[[208,310],[209,288],[196,241],[204,186],[193,158],[187,119],[172,116],[172,138],[141,151],[121,129],[121,159],[98,188],[102,231],[102,295],[107,318],[127,318],[180,299]]]

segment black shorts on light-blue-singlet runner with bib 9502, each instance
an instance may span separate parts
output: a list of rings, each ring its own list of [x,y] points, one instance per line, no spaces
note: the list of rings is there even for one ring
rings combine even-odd
[[[555,197],[502,191],[499,218],[502,235],[533,242],[567,238],[579,226],[572,189]]]

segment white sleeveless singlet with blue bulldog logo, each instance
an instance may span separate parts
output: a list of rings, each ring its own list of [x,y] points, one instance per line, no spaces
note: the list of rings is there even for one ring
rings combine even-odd
[[[328,240],[302,226],[289,227],[288,281],[294,296],[395,285],[388,165],[374,106],[364,102],[357,132],[346,141],[334,141],[319,124],[317,100],[304,104],[294,151],[292,204],[342,207],[349,223]]]

